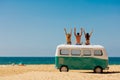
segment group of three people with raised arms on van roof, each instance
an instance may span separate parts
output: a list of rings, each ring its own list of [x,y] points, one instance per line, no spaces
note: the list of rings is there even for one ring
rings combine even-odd
[[[64,28],[64,31],[65,31],[67,44],[72,44],[72,42],[71,42],[72,29],[69,33],[67,33],[66,28]],[[86,33],[85,30],[83,28],[81,28],[80,33],[78,32],[76,34],[76,28],[74,28],[74,36],[76,38],[76,45],[82,45],[83,44],[81,42],[81,37],[82,37],[83,32],[84,32],[84,36],[85,36],[85,39],[86,39],[85,44],[90,45],[90,37],[92,36],[93,30],[90,33]]]

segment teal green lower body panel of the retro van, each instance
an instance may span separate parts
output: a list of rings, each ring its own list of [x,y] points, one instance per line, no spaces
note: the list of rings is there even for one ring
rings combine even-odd
[[[108,60],[94,57],[55,57],[56,68],[62,65],[68,66],[69,69],[74,70],[93,70],[96,66],[101,66],[103,69],[107,68]]]

